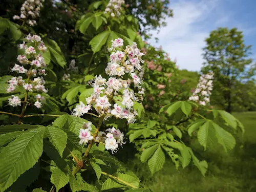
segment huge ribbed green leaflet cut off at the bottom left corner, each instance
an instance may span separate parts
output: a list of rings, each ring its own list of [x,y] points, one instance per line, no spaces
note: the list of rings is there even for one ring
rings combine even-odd
[[[9,143],[0,153],[0,188],[4,191],[34,166],[42,154],[45,127],[30,130]]]

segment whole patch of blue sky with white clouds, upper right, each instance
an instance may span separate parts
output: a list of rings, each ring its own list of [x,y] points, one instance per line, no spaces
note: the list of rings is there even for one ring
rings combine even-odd
[[[252,45],[251,57],[256,60],[256,0],[172,0],[173,18],[160,29],[151,43],[177,58],[180,69],[200,71],[204,39],[218,27],[237,27],[244,33],[246,45]]]

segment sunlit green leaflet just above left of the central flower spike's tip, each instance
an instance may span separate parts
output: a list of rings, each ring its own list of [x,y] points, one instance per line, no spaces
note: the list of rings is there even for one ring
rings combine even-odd
[[[104,31],[95,37],[89,42],[89,45],[92,47],[93,53],[100,51],[101,47],[105,45],[106,40],[108,39],[110,31]]]

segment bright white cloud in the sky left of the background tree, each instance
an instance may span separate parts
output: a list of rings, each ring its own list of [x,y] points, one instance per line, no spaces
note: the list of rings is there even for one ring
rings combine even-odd
[[[153,37],[158,37],[159,42],[152,44],[158,47],[162,45],[172,59],[176,57],[180,69],[199,71],[203,62],[201,54],[205,45],[204,39],[214,29],[214,26],[205,21],[218,4],[219,1],[216,0],[181,0],[170,4],[174,17],[166,20],[167,26],[161,28],[159,34],[153,32]],[[216,22],[218,24],[218,20],[223,23],[227,22],[228,18],[223,21],[216,18],[212,25],[216,25]]]

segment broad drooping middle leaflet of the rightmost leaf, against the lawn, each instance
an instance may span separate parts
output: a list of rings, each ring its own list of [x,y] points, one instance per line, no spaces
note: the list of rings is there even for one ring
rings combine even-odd
[[[222,127],[220,127],[215,122],[211,122],[212,126],[215,129],[216,137],[218,142],[224,147],[224,150],[227,152],[228,150],[232,150],[234,145],[236,145],[236,139],[225,131]]]

